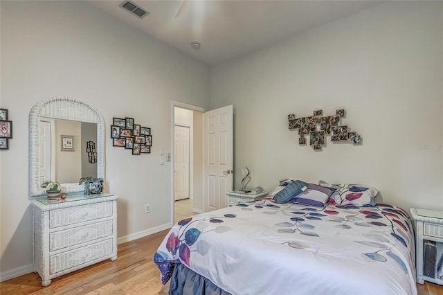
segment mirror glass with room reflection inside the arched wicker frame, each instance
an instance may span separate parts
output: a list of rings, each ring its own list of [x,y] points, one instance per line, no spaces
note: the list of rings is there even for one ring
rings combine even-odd
[[[43,181],[78,184],[80,177],[97,177],[97,162],[88,142],[97,143],[97,124],[40,117],[39,185]],[[63,148],[63,138],[73,138],[72,148]],[[64,137],[66,136],[66,137]]]

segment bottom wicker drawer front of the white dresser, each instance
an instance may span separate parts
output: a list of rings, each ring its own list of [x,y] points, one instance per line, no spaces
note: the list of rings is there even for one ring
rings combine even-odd
[[[91,244],[87,247],[81,247],[71,251],[66,251],[49,257],[49,273],[57,272],[78,267],[84,263],[108,256],[112,253],[112,239]]]

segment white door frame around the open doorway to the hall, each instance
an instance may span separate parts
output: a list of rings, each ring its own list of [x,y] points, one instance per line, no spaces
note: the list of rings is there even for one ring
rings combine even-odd
[[[171,153],[171,170],[170,170],[170,175],[171,175],[171,187],[170,187],[170,200],[171,200],[171,224],[174,224],[174,126],[175,126],[175,107],[180,107],[182,109],[189,109],[190,111],[200,111],[201,113],[203,113],[203,117],[205,119],[205,113],[206,111],[208,111],[208,109],[204,109],[203,107],[197,107],[195,105],[189,105],[188,103],[184,103],[184,102],[179,102],[177,100],[171,100],[171,130],[170,130],[170,153]],[[205,134],[203,134],[203,137],[205,136]],[[205,143],[205,138],[203,138],[203,142]],[[203,158],[203,163],[205,163],[205,149],[203,149],[203,154],[201,155],[201,157]],[[202,167],[203,170],[203,184],[204,184],[204,175],[205,175],[205,166],[203,165]],[[201,204],[201,208],[205,208],[205,198],[202,198],[202,204]],[[203,212],[201,212],[203,213]]]

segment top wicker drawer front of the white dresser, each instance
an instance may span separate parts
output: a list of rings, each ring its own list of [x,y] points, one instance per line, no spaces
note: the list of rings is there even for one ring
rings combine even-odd
[[[112,209],[112,202],[102,202],[51,210],[49,211],[49,228],[109,217],[112,216]]]

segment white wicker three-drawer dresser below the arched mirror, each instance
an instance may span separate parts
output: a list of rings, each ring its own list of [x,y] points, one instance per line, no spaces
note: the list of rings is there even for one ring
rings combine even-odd
[[[42,285],[71,271],[117,259],[117,196],[37,199],[33,205],[34,267]]]

